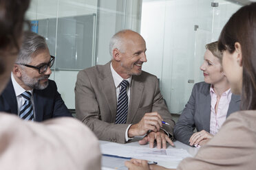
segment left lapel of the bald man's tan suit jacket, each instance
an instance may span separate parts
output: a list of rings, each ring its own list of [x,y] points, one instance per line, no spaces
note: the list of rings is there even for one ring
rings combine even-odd
[[[116,88],[114,84],[114,79],[110,70],[110,63],[105,64],[102,79],[100,80],[100,86],[103,89],[103,94],[109,104],[109,109],[111,110],[111,122],[116,120]]]

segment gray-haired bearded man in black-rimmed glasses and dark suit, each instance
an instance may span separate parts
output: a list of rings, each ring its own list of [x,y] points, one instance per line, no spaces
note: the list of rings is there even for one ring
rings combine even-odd
[[[34,32],[24,32],[11,80],[0,96],[0,111],[32,121],[72,117],[56,83],[48,80],[53,64],[54,57],[50,56],[45,38]]]

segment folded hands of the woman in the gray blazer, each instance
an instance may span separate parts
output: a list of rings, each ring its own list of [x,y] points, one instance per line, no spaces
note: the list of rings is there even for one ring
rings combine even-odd
[[[197,145],[202,140],[209,141],[209,139],[213,138],[212,134],[209,134],[209,132],[206,132],[205,130],[201,130],[200,132],[195,132],[189,139],[189,145]],[[202,141],[201,144],[204,145],[207,141]]]

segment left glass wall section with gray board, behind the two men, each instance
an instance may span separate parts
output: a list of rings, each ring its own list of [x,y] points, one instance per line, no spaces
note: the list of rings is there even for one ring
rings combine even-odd
[[[67,108],[74,109],[78,71],[111,60],[109,39],[120,29],[140,31],[139,0],[32,0],[26,17],[56,56],[52,75]],[[139,15],[138,15],[139,11]]]

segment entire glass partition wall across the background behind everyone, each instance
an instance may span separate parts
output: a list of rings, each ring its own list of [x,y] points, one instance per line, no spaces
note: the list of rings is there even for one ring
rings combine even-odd
[[[111,36],[133,29],[147,42],[143,69],[158,76],[170,112],[180,114],[193,84],[203,81],[204,45],[239,7],[224,0],[32,0],[27,19],[56,56],[50,79],[67,108],[75,108],[78,71],[109,62]]]

